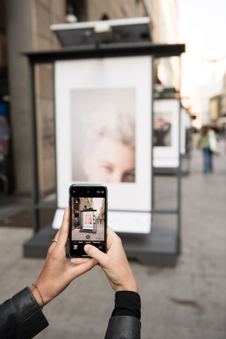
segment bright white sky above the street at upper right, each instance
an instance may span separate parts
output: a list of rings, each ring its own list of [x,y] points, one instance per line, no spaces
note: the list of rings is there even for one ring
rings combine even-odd
[[[187,51],[182,97],[189,96],[194,113],[205,116],[209,97],[221,94],[226,70],[226,0],[177,0],[177,7],[179,39]],[[220,61],[209,62],[213,59]]]

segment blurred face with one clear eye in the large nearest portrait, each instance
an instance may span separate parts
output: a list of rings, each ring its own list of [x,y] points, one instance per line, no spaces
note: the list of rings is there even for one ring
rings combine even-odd
[[[135,149],[120,141],[100,137],[83,158],[88,181],[135,182]]]

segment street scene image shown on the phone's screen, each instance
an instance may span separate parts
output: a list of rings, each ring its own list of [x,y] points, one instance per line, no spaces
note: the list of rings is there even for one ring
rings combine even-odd
[[[104,241],[105,198],[73,197],[71,240]]]

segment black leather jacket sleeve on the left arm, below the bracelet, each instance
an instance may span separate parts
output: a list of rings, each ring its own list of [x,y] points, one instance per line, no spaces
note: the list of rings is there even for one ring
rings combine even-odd
[[[28,286],[0,305],[0,339],[30,339],[47,326]]]

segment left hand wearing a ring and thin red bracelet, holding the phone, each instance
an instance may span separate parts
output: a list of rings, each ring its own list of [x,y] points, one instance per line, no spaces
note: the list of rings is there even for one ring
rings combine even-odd
[[[72,280],[98,265],[95,259],[76,259],[74,263],[77,266],[71,266],[68,263],[66,259],[68,221],[68,208],[65,208],[62,225],[55,236],[58,241],[53,242],[49,247],[44,266],[36,282],[45,305],[63,292]],[[30,290],[39,306],[42,306],[36,287],[32,285]]]

